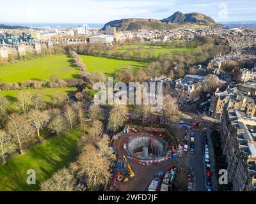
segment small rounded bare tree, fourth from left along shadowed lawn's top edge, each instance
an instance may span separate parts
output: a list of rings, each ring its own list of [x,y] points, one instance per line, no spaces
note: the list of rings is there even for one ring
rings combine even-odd
[[[60,133],[67,129],[67,124],[65,122],[63,115],[58,114],[52,117],[48,125],[48,129],[53,133],[56,133],[56,135],[60,136]]]

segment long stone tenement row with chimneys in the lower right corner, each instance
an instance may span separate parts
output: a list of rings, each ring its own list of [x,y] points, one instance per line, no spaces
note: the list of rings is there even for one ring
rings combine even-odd
[[[233,191],[256,191],[256,118],[232,108],[229,100],[221,117],[220,135]]]

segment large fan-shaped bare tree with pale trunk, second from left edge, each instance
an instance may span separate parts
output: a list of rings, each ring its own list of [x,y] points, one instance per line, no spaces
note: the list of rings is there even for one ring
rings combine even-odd
[[[6,129],[13,137],[13,142],[17,145],[20,154],[23,154],[23,145],[31,140],[35,133],[35,129],[33,129],[24,117],[17,113],[9,115]]]

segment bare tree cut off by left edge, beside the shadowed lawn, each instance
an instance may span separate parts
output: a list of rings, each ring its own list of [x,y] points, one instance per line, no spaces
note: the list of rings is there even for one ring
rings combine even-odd
[[[0,129],[0,159],[4,164],[6,162],[6,154],[15,150],[12,138],[3,129]]]

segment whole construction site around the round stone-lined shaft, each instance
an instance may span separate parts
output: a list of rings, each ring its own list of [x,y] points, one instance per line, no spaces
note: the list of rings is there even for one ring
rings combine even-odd
[[[170,136],[161,128],[125,126],[124,131],[113,136],[111,147],[117,162],[106,191],[157,191],[160,187],[151,183],[157,175],[162,179],[170,175],[171,179],[173,173],[169,171],[179,157],[170,145]],[[150,190],[152,185],[155,189]]]

